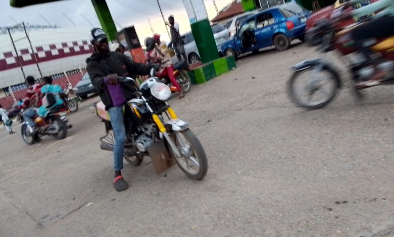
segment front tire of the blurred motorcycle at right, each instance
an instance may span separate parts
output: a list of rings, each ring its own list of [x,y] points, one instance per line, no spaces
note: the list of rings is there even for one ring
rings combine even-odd
[[[322,108],[324,106],[326,106],[328,103],[330,103],[332,101],[332,99],[335,97],[335,95],[337,94],[338,88],[339,88],[339,78],[338,75],[330,68],[324,67],[323,71],[327,72],[328,74],[330,74],[332,77],[332,80],[334,82],[334,87],[332,89],[331,95],[328,96],[324,101],[322,101],[321,103],[317,103],[317,104],[307,104],[304,103],[302,101],[300,101],[299,96],[295,95],[294,93],[294,88],[293,88],[293,84],[295,82],[295,80],[297,80],[297,78],[299,78],[303,73],[309,71],[309,70],[313,70],[313,68],[308,68],[306,70],[300,70],[295,72],[290,80],[288,81],[288,87],[287,87],[287,91],[288,91],[288,95],[290,96],[290,99],[293,103],[304,107],[304,108],[309,108],[309,109],[318,109],[318,108]]]

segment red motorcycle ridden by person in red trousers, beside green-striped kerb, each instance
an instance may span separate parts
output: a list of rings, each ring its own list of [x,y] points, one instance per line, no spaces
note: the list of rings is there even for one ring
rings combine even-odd
[[[189,75],[187,74],[188,65],[186,61],[182,60],[174,64],[174,77],[178,82],[180,88],[182,89],[183,93],[187,93],[190,91],[191,88],[191,80]],[[172,86],[170,78],[167,75],[162,75],[157,73],[156,76],[160,78],[160,81],[166,84],[172,92],[177,92],[177,90]]]

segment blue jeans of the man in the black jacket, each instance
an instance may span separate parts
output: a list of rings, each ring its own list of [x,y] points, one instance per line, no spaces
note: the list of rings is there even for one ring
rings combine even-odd
[[[115,135],[114,170],[120,171],[123,168],[123,149],[126,142],[123,106],[111,107],[108,109],[108,113],[110,114],[111,125]]]

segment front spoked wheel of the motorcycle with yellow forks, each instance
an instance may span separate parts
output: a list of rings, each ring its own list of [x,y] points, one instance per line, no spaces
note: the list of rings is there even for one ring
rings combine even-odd
[[[203,179],[208,170],[208,161],[199,139],[187,129],[175,132],[174,142],[181,154],[181,157],[173,155],[179,168],[192,180]]]

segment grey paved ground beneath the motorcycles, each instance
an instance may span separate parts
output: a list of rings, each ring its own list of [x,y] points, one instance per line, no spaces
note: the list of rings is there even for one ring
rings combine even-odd
[[[345,84],[324,109],[295,107],[289,68],[317,54],[265,50],[170,100],[208,154],[200,182],[157,176],[147,158],[125,164],[131,187],[117,193],[97,97],[65,140],[27,146],[1,130],[0,236],[394,236],[392,87],[360,102]]]

